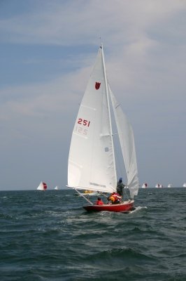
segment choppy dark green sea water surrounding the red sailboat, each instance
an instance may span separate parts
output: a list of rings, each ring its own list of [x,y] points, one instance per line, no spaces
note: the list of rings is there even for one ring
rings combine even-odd
[[[1,191],[1,280],[185,281],[185,202],[148,188],[130,214],[87,213],[73,190]]]

